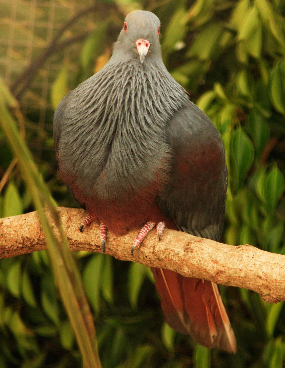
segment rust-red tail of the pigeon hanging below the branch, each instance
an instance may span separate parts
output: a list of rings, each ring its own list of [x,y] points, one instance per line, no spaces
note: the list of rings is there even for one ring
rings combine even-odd
[[[217,284],[152,268],[166,322],[199,344],[236,352],[236,339]]]

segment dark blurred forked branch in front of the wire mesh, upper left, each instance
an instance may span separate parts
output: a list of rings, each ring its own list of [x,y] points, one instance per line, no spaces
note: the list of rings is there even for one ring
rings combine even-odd
[[[102,15],[108,15],[106,13],[106,6],[109,6],[110,9],[114,8],[114,4],[110,3],[96,3],[96,5],[91,6],[82,10],[80,13],[76,14],[69,22],[67,22],[57,33],[57,35],[50,42],[49,46],[47,46],[46,50],[43,52],[41,56],[39,56],[36,60],[31,61],[29,66],[22,72],[22,74],[15,80],[13,85],[11,85],[10,90],[15,96],[16,99],[20,99],[24,91],[31,85],[32,80],[37,74],[39,68],[45,63],[45,61],[55,52],[63,50],[65,47],[71,45],[72,43],[81,41],[86,36],[88,36],[88,32],[85,32],[79,36],[75,36],[74,38],[70,38],[64,40],[62,42],[58,42],[59,38],[63,35],[63,33],[70,28],[75,22],[77,22],[84,15],[99,11]]]

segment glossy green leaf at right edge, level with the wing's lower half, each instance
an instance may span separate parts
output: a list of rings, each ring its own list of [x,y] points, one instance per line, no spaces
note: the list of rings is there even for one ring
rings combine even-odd
[[[273,213],[284,192],[285,180],[277,165],[272,167],[264,183],[264,201],[270,213]]]

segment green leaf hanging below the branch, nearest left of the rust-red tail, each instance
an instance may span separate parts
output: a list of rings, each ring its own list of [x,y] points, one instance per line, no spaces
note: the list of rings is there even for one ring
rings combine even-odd
[[[141,263],[132,262],[129,268],[129,300],[133,308],[137,307],[138,294],[146,276],[147,267]]]

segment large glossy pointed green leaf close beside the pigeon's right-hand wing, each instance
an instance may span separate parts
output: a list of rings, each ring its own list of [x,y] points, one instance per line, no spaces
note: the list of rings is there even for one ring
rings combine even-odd
[[[235,188],[238,189],[244,181],[247,171],[250,169],[254,158],[254,148],[247,134],[239,127],[231,138],[231,161],[233,163],[233,176]]]

